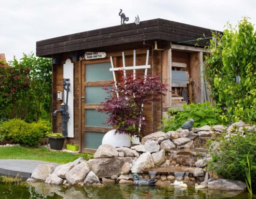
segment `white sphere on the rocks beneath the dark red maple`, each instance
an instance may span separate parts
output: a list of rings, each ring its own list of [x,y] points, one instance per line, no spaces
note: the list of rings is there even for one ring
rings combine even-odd
[[[130,147],[131,146],[131,140],[130,140],[130,136],[128,136],[127,134],[119,134],[116,133],[116,130],[110,130],[109,132],[107,132],[103,139],[102,139],[102,145],[112,145],[112,147]]]

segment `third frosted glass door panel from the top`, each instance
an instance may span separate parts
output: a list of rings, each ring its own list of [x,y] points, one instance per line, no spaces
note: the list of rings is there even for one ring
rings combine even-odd
[[[85,125],[86,126],[102,126],[107,127],[106,122],[107,115],[103,112],[98,112],[96,109],[86,109],[85,110]]]

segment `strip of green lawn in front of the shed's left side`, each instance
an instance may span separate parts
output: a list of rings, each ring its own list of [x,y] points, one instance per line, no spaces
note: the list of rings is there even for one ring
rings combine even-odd
[[[0,159],[26,159],[26,160],[42,160],[55,163],[68,163],[74,161],[79,157],[84,157],[88,160],[91,155],[87,153],[71,154],[61,151],[50,151],[47,148],[33,148],[33,147],[1,147]]]

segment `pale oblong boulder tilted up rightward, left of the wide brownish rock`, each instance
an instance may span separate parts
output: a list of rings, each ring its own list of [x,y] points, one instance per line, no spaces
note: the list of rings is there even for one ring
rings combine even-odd
[[[69,184],[74,185],[84,180],[85,176],[90,172],[89,165],[86,161],[74,166],[65,177]]]

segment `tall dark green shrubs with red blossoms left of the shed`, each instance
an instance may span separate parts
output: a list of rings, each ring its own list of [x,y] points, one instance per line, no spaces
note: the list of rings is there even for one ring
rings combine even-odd
[[[23,54],[0,63],[0,118],[51,119],[51,59]],[[45,114],[47,113],[47,114]]]

